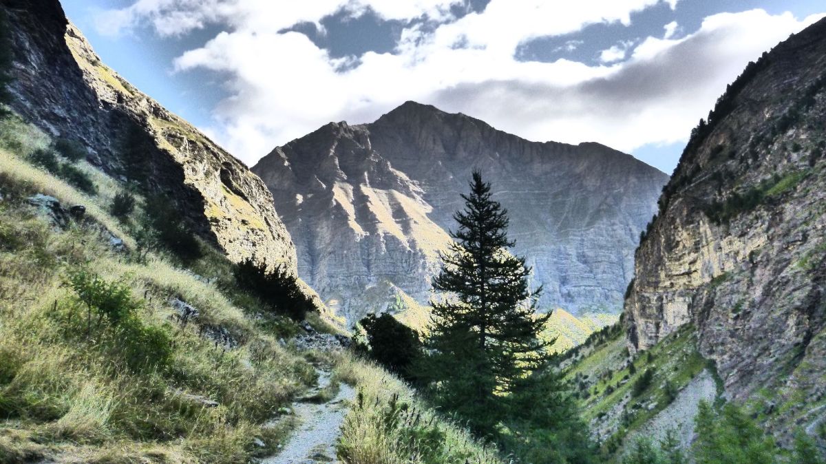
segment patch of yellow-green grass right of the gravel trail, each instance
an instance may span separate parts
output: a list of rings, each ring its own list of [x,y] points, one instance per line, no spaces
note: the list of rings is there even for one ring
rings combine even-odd
[[[342,425],[338,454],[349,464],[501,463],[496,447],[415,397],[403,381],[349,353],[335,360],[333,379],[358,391]]]

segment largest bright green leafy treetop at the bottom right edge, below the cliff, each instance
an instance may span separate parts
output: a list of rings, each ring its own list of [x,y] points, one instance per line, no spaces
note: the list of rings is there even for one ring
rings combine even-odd
[[[695,432],[694,457],[698,464],[777,462],[774,440],[735,405],[724,405],[717,411],[701,402]]]

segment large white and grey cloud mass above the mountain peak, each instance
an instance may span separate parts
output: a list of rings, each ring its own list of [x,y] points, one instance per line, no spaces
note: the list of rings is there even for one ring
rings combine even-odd
[[[209,2],[211,8],[197,7],[203,0],[140,0],[107,14],[121,29],[150,21],[159,34],[227,25],[174,65],[178,72],[228,76],[230,97],[215,108],[207,130],[249,164],[326,122],[373,121],[406,100],[461,111],[529,140],[593,140],[624,151],[674,143],[686,139],[750,59],[814,21],[762,10],[725,13],[680,39],[674,24],[662,38],[638,40],[633,50],[616,45],[605,50],[602,64],[589,65],[520,61],[515,51],[589,24],[629,24],[631,12],[676,1],[591,0],[563,8],[545,0],[491,0],[483,12],[458,20],[449,7],[464,2],[452,0]],[[356,59],[335,59],[306,36],[282,32],[331,12],[358,16],[368,7],[384,18],[430,21],[406,22],[394,53]],[[189,19],[175,29],[170,25],[179,13]]]

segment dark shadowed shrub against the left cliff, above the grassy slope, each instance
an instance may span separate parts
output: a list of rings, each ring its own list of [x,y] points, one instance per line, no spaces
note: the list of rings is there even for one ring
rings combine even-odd
[[[139,239],[150,249],[166,249],[184,263],[203,256],[201,244],[181,220],[180,213],[164,196],[154,195],[146,200],[145,234]]]

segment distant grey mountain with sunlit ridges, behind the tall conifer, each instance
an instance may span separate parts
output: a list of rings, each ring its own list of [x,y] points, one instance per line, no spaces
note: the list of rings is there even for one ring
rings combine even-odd
[[[510,213],[541,304],[617,312],[640,230],[667,175],[600,144],[535,143],[406,102],[368,125],[330,123],[253,168],[298,249],[299,275],[350,322],[391,282],[425,303],[472,169]],[[382,293],[383,292],[377,292]]]

